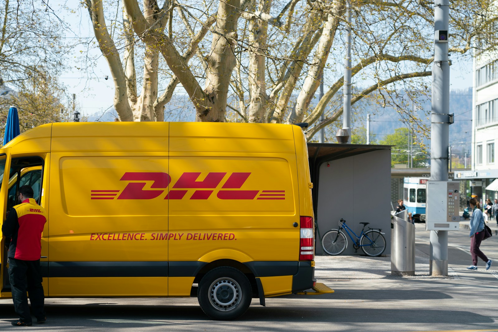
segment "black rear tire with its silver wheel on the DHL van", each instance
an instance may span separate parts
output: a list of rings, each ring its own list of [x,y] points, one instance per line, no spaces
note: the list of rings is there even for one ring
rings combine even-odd
[[[202,311],[213,320],[231,321],[248,310],[252,289],[244,273],[233,267],[221,266],[202,277],[197,299]]]

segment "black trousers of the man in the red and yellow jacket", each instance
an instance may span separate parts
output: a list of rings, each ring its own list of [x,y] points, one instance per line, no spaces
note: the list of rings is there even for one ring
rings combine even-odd
[[[8,277],[10,287],[12,288],[14,310],[19,315],[21,322],[32,323],[26,291],[29,295],[33,315],[38,320],[43,319],[45,317],[43,308],[45,296],[43,295],[43,286],[41,285],[40,260],[9,258]]]

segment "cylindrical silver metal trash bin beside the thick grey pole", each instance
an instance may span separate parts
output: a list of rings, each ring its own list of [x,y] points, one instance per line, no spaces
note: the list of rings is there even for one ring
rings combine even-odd
[[[399,214],[402,215],[402,212]],[[415,225],[397,215],[391,217],[391,274],[413,276],[415,275]]]

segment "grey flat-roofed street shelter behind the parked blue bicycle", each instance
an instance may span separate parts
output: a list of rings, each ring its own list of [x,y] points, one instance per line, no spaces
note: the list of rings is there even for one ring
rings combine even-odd
[[[382,228],[387,241],[384,254],[389,254],[391,146],[308,143],[308,155],[317,223],[316,253],[323,254],[321,237],[338,228],[342,218],[358,235],[363,227],[359,222]],[[363,254],[361,249],[355,252],[354,243],[346,237],[348,247],[343,254]]]

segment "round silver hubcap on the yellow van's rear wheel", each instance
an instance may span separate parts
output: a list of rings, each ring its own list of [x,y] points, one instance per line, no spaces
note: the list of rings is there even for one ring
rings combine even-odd
[[[232,278],[216,279],[209,289],[211,305],[220,311],[233,310],[241,302],[241,287]]]

